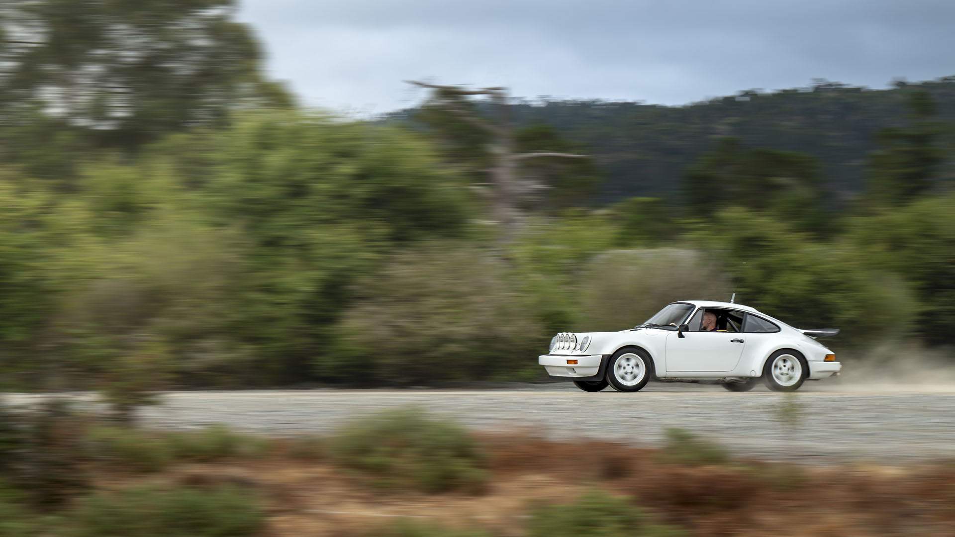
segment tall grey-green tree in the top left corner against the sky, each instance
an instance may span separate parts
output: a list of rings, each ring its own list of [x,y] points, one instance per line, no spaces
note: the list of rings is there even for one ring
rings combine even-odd
[[[7,0],[3,158],[63,179],[54,175],[69,167],[62,154],[41,164],[33,153],[128,151],[222,125],[237,107],[288,106],[285,91],[263,78],[259,46],[234,11],[234,0]]]

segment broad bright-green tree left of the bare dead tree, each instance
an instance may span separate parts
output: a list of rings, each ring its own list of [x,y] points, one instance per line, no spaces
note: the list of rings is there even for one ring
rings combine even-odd
[[[311,376],[356,278],[397,247],[466,236],[473,212],[458,176],[400,128],[251,114],[152,158],[184,172],[184,203],[208,223],[241,230],[230,333],[271,381]]]

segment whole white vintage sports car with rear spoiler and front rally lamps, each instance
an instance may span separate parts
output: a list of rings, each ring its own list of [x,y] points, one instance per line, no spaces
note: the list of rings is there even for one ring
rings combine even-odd
[[[799,330],[732,302],[687,300],[629,330],[558,333],[538,363],[585,392],[607,385],[636,392],[650,378],[718,383],[732,392],[752,390],[762,378],[771,390],[793,392],[805,380],[838,375],[836,354],[816,341],[837,333]]]

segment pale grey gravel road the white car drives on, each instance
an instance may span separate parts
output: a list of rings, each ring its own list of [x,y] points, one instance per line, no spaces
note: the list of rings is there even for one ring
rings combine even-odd
[[[382,409],[419,405],[468,426],[555,439],[654,445],[667,427],[718,440],[740,456],[775,461],[914,462],[955,458],[955,386],[825,386],[796,393],[801,425],[777,417],[786,396],[759,387],[651,383],[636,394],[588,394],[557,383],[511,390],[178,392],[143,410],[149,425],[225,423],[273,435],[327,433]]]

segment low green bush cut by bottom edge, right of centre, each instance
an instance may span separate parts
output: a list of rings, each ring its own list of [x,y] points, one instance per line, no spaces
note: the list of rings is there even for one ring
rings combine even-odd
[[[536,510],[528,537],[677,537],[671,526],[651,524],[647,514],[629,499],[593,491],[578,501]]]

